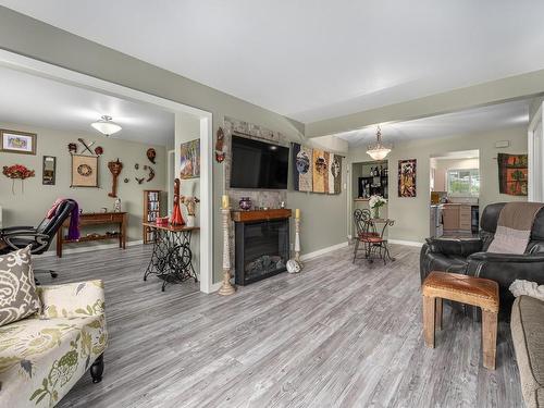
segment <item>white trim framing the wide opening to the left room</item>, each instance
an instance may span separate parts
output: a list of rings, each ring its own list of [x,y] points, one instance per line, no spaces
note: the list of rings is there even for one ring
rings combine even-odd
[[[200,290],[214,292],[217,285],[213,285],[212,113],[1,49],[0,65],[125,100],[151,104],[174,114],[188,113],[200,120]]]

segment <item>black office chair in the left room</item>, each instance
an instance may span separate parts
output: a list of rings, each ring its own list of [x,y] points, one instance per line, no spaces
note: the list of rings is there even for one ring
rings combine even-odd
[[[13,250],[22,249],[32,245],[30,254],[40,255],[49,249],[53,242],[54,235],[61,228],[62,224],[71,215],[72,210],[75,208],[74,200],[63,201],[57,209],[55,214],[48,219],[47,217],[39,223],[37,227],[34,226],[10,226],[0,230],[0,240],[3,240],[7,246],[0,248],[0,255],[9,254]],[[60,234],[60,232],[59,232]],[[35,270],[34,273],[44,271]],[[57,277],[55,271],[47,271],[51,277]]]

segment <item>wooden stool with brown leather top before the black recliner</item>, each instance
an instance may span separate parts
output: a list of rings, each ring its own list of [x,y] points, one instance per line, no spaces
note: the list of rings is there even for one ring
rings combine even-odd
[[[423,332],[434,348],[435,326],[442,330],[442,299],[482,309],[483,367],[495,370],[497,351],[498,284],[494,281],[449,272],[431,272],[422,285]]]

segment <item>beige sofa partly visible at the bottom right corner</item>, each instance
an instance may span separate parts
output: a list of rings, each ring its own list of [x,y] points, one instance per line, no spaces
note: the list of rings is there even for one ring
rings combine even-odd
[[[528,408],[544,408],[544,301],[530,296],[516,298],[510,329]]]

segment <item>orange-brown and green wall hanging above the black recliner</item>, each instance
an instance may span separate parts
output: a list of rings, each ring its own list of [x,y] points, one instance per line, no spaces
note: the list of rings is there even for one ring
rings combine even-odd
[[[497,154],[498,191],[510,196],[527,196],[527,154]]]

